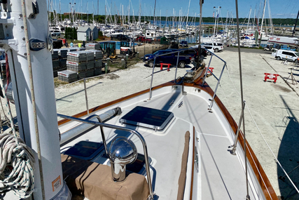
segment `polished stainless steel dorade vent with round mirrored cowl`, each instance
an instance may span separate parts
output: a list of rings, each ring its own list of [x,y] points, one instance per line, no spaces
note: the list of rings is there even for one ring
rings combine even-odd
[[[137,159],[137,148],[125,137],[116,137],[109,148],[112,178],[114,181],[125,180],[125,166]]]

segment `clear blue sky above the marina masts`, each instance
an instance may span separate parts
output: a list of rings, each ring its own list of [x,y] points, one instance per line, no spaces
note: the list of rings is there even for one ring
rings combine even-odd
[[[151,15],[153,16],[154,7],[155,15],[160,16],[189,16],[194,17],[195,15],[199,16],[200,13],[200,0],[49,0],[52,1],[52,10],[56,10],[57,13],[60,13],[60,2],[61,2],[61,12],[67,13],[70,11],[71,5],[74,6],[76,12],[83,13],[94,13],[97,15],[97,4],[99,1],[99,14],[105,14],[105,5],[108,13],[110,14],[119,14],[122,13],[122,8],[120,5],[123,5],[123,13],[127,15],[128,6],[130,4],[130,15],[138,16],[139,7],[141,5],[141,16]],[[249,18],[249,11],[251,8],[250,18],[253,18],[254,13],[258,15],[260,13],[260,18],[263,13],[263,4],[265,0],[238,0],[238,9],[239,9],[239,18]],[[269,2],[269,3],[268,3]],[[75,5],[76,3],[76,5]],[[270,13],[272,18],[296,18],[299,10],[299,0],[267,0],[265,17],[269,18],[269,6]],[[218,6],[221,8],[218,9]],[[217,9],[215,9],[216,7]],[[112,9],[111,9],[112,8]],[[220,10],[220,13],[219,13]],[[236,17],[236,8],[235,0],[204,0],[202,4],[202,17],[213,17],[216,16],[216,12],[219,13],[220,17],[226,18],[228,13]]]

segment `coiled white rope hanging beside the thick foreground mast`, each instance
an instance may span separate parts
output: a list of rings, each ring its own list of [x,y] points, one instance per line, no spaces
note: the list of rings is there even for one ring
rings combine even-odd
[[[34,189],[34,154],[21,138],[4,133],[0,135],[0,192],[13,190],[22,199],[31,196]]]

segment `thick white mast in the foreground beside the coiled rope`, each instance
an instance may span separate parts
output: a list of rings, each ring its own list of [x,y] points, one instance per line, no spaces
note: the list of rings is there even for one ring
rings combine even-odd
[[[24,173],[25,176],[22,177],[24,181],[22,183],[28,184],[27,188],[25,189],[26,185],[22,185],[22,188],[11,186],[15,191],[18,189],[19,194],[22,193],[24,196],[32,194],[32,196],[8,198],[54,199],[55,196],[64,195],[62,191],[67,189],[67,185],[64,184],[62,177],[53,63],[50,53],[52,48],[47,45],[49,29],[47,2],[38,1],[39,12],[36,12],[32,1],[6,2],[8,4],[3,2],[1,4],[2,8],[7,8],[1,9],[1,15],[3,13],[7,17],[1,18],[1,23],[10,25],[8,27],[10,34],[1,39],[1,47],[7,53],[6,58],[10,67],[20,138],[26,142],[28,149],[34,150],[32,156],[35,159],[35,162],[32,159],[26,161],[28,165],[34,166],[33,170],[27,166],[23,168],[25,171],[28,170],[27,175]],[[29,45],[29,39],[39,41],[40,48]],[[23,149],[21,144],[19,147]],[[18,152],[18,148],[14,151]],[[26,157],[25,154],[20,154],[20,159]]]

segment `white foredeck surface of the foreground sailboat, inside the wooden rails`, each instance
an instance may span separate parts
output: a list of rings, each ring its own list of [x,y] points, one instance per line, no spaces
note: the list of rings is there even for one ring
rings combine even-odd
[[[214,104],[213,112],[209,112],[207,109],[209,107],[208,99],[211,97],[207,93],[186,86],[185,91],[187,91],[187,95],[182,95],[181,86],[176,90],[173,90],[172,86],[167,86],[153,91],[151,100],[147,100],[147,93],[120,102],[120,104],[103,109],[96,114],[102,114],[114,107],[121,107],[123,114],[106,121],[106,124],[125,126],[118,122],[119,119],[137,105],[174,113],[174,119],[163,131],[155,132],[149,128],[126,125],[127,128],[141,133],[146,140],[148,155],[153,159],[151,176],[153,177],[155,199],[176,199],[186,131],[190,132],[190,146],[184,199],[190,199],[193,127],[195,128],[195,151],[197,150],[195,154],[198,154],[199,160],[198,170],[196,163],[194,167],[193,199],[245,199],[244,153],[240,153],[240,148],[237,148],[237,156],[232,156],[228,152],[228,146],[232,145],[234,139],[228,121],[223,117],[216,104]],[[174,103],[170,105],[172,100]],[[178,107],[181,102],[183,105]],[[74,124],[78,123],[70,122],[60,126],[61,133],[74,127]],[[104,128],[104,132],[108,147],[112,138],[122,135],[130,138],[137,146],[138,152],[144,154],[140,140],[131,133],[108,128]],[[99,128],[94,128],[85,135],[72,140],[62,149],[81,140],[101,142]],[[93,161],[107,164],[106,159],[96,158]],[[249,195],[251,199],[264,199],[253,174],[249,167]]]

